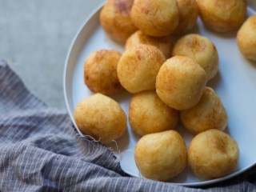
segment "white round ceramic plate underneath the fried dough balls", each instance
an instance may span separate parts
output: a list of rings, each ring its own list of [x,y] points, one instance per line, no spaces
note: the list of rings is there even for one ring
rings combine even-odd
[[[256,14],[254,0],[248,3],[250,5],[248,15]],[[66,106],[73,122],[75,106],[83,98],[93,94],[86,87],[83,80],[83,62],[86,57],[92,51],[100,49],[113,49],[123,52],[123,45],[106,36],[100,26],[98,16],[99,10],[95,11],[84,23],[74,38],[66,58],[64,94]],[[212,86],[216,90],[226,107],[230,116],[226,132],[238,142],[240,158],[238,168],[233,174],[214,180],[202,180],[196,177],[190,168],[186,168],[182,174],[170,181],[184,186],[202,186],[221,182],[241,174],[254,166],[256,162],[256,153],[254,152],[254,146],[256,146],[256,63],[246,60],[239,52],[236,45],[236,32],[228,34],[214,33],[206,29],[200,19],[198,19],[198,26],[195,27],[193,32],[210,38],[218,49],[220,58],[218,75],[208,86]],[[126,92],[114,96],[114,99],[121,104],[127,115],[130,97],[131,94]],[[126,134],[117,141],[118,149],[115,143],[110,147],[120,158],[122,169],[126,173],[141,177],[134,162],[134,147],[138,141],[138,136],[131,131],[129,122],[127,124]],[[193,136],[186,132],[182,126],[179,126],[177,130],[185,138],[186,146],[188,146]],[[78,132],[82,135],[79,130]]]

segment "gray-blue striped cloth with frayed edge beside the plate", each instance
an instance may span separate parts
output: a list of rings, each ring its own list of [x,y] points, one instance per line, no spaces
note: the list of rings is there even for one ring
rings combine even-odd
[[[210,187],[130,177],[110,150],[78,137],[66,113],[30,94],[0,61],[1,191],[256,191],[242,177]]]

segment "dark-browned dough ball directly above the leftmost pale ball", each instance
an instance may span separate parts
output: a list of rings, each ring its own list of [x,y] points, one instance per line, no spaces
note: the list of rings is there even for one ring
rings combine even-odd
[[[97,50],[84,63],[86,86],[94,93],[115,94],[122,86],[118,80],[117,67],[122,54],[116,50]]]

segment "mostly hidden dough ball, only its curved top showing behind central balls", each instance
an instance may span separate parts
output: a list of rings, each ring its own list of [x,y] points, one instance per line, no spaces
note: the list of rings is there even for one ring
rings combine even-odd
[[[142,31],[138,30],[130,36],[126,41],[126,49],[131,47],[138,46],[139,44],[146,44],[150,46],[156,46],[166,58],[170,58],[171,50],[173,48],[173,43],[171,42],[170,36],[165,36],[162,38],[150,37],[146,34],[143,34]]]

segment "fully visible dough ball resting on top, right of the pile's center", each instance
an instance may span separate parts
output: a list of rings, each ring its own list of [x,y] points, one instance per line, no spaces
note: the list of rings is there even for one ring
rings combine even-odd
[[[156,91],[159,98],[175,110],[195,106],[206,87],[206,72],[185,56],[166,60],[159,70]]]

